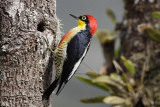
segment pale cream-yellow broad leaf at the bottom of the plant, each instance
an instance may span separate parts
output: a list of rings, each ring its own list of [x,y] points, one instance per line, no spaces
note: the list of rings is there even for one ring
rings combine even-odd
[[[129,99],[124,99],[117,96],[108,96],[104,98],[103,102],[112,105],[119,105],[119,104],[131,105],[131,101]]]

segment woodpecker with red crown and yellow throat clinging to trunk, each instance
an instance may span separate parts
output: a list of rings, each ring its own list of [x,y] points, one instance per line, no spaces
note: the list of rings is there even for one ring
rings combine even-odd
[[[61,39],[55,53],[56,77],[49,88],[44,92],[42,99],[49,99],[52,91],[58,86],[56,95],[59,95],[66,83],[75,74],[85,57],[92,36],[97,29],[97,21],[92,15],[79,17],[70,14],[78,22],[78,26],[67,32]]]

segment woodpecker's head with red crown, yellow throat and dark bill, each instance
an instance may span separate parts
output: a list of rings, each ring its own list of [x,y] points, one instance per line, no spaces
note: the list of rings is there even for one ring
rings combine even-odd
[[[78,21],[78,27],[86,28],[90,31],[91,35],[97,30],[97,21],[92,15],[81,15],[79,17],[70,14]]]

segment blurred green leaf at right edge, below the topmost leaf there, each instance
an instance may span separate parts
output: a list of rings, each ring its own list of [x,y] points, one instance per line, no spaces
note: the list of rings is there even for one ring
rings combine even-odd
[[[160,31],[153,28],[147,28],[144,30],[144,33],[153,41],[160,43]]]

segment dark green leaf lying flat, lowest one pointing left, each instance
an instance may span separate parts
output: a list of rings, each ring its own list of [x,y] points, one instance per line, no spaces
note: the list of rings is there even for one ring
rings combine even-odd
[[[93,98],[88,99],[81,99],[81,102],[83,103],[102,103],[105,96],[97,96]]]

